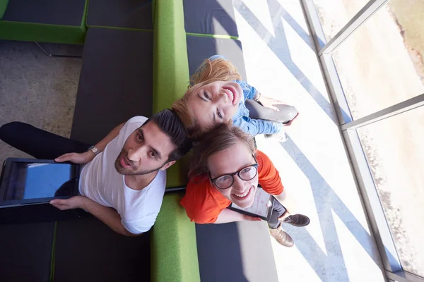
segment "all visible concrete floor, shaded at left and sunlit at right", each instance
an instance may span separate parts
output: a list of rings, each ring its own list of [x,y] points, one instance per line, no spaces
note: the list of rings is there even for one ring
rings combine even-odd
[[[269,238],[279,281],[384,281],[299,1],[234,3],[249,83],[300,111],[287,142],[257,138],[297,212],[311,219],[284,226],[293,248]],[[33,43],[0,41],[0,125],[24,121],[69,136],[80,69],[81,60],[49,58]],[[25,154],[1,142],[6,157]]]

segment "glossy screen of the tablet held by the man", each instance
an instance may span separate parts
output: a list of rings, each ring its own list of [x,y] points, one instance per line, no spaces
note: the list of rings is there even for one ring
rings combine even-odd
[[[9,175],[4,200],[66,196],[75,189],[72,164],[13,162]]]

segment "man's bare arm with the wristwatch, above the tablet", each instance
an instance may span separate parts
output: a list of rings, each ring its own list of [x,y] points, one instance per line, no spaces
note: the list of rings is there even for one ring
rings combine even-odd
[[[114,137],[117,137],[119,134],[119,131],[124,127],[125,123],[121,123],[116,128],[112,129],[112,131],[106,135],[105,138],[103,138],[100,142],[98,142],[95,147],[99,149],[100,152],[104,151],[107,144],[109,144],[110,141],[114,139]],[[74,164],[88,164],[90,161],[92,161],[95,157],[95,154],[91,152],[91,150],[88,150],[87,152],[83,152],[81,154],[69,152],[67,154],[62,154],[60,157],[57,157],[54,159],[54,161],[57,161],[59,163],[64,161],[72,161]]]

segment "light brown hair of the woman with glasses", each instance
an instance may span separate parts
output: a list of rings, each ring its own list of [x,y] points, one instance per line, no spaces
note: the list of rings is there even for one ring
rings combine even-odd
[[[208,158],[216,152],[223,151],[241,142],[256,155],[253,137],[240,128],[221,123],[207,133],[204,138],[193,148],[193,159],[190,165],[189,178],[194,176],[207,176],[209,173]]]

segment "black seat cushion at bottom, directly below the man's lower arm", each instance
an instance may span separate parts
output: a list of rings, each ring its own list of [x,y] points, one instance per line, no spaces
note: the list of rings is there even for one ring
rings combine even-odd
[[[149,233],[119,235],[95,217],[59,221],[54,282],[150,281]]]

